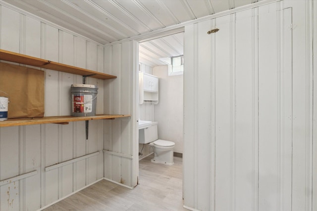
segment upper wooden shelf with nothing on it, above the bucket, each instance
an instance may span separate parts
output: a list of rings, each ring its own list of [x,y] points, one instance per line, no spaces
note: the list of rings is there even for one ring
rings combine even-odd
[[[66,64],[61,64],[45,59],[40,59],[32,56],[27,56],[7,50],[0,49],[0,60],[5,60],[9,62],[16,62],[25,65],[31,65],[35,67],[41,67],[51,70],[57,70],[60,72],[71,73],[81,76],[89,76],[96,79],[115,79],[116,76],[108,75],[105,73],[100,73],[92,70],[87,70],[79,67],[74,67]]]

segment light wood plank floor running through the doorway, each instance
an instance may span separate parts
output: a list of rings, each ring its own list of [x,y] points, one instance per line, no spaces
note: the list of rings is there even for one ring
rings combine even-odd
[[[45,211],[186,211],[182,200],[182,159],[174,165],[139,162],[139,185],[133,190],[102,180]]]

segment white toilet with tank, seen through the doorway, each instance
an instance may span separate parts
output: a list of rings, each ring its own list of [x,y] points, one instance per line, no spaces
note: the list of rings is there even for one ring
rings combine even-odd
[[[158,139],[158,122],[152,122],[151,126],[139,129],[139,143],[148,144],[154,151],[153,163],[164,165],[174,164],[174,146],[172,141]]]

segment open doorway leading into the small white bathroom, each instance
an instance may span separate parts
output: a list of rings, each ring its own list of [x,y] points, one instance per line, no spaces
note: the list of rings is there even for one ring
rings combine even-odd
[[[179,204],[174,204],[179,208],[183,204],[183,54],[183,31],[139,42],[139,74],[157,77],[159,81],[158,93],[153,92],[151,96],[140,93],[143,83],[139,83],[139,122],[157,122],[158,139],[175,143],[171,166],[151,162],[154,158],[152,147],[139,143],[139,181],[146,182],[149,177],[157,176],[158,179],[151,180],[158,182],[158,188],[163,185],[175,190],[173,198],[179,199]]]

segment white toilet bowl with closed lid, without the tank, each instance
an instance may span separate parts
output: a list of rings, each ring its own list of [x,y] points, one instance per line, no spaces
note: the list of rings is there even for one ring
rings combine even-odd
[[[154,151],[154,158],[151,159],[153,163],[164,165],[174,164],[174,142],[158,139],[151,142],[149,145]]]

